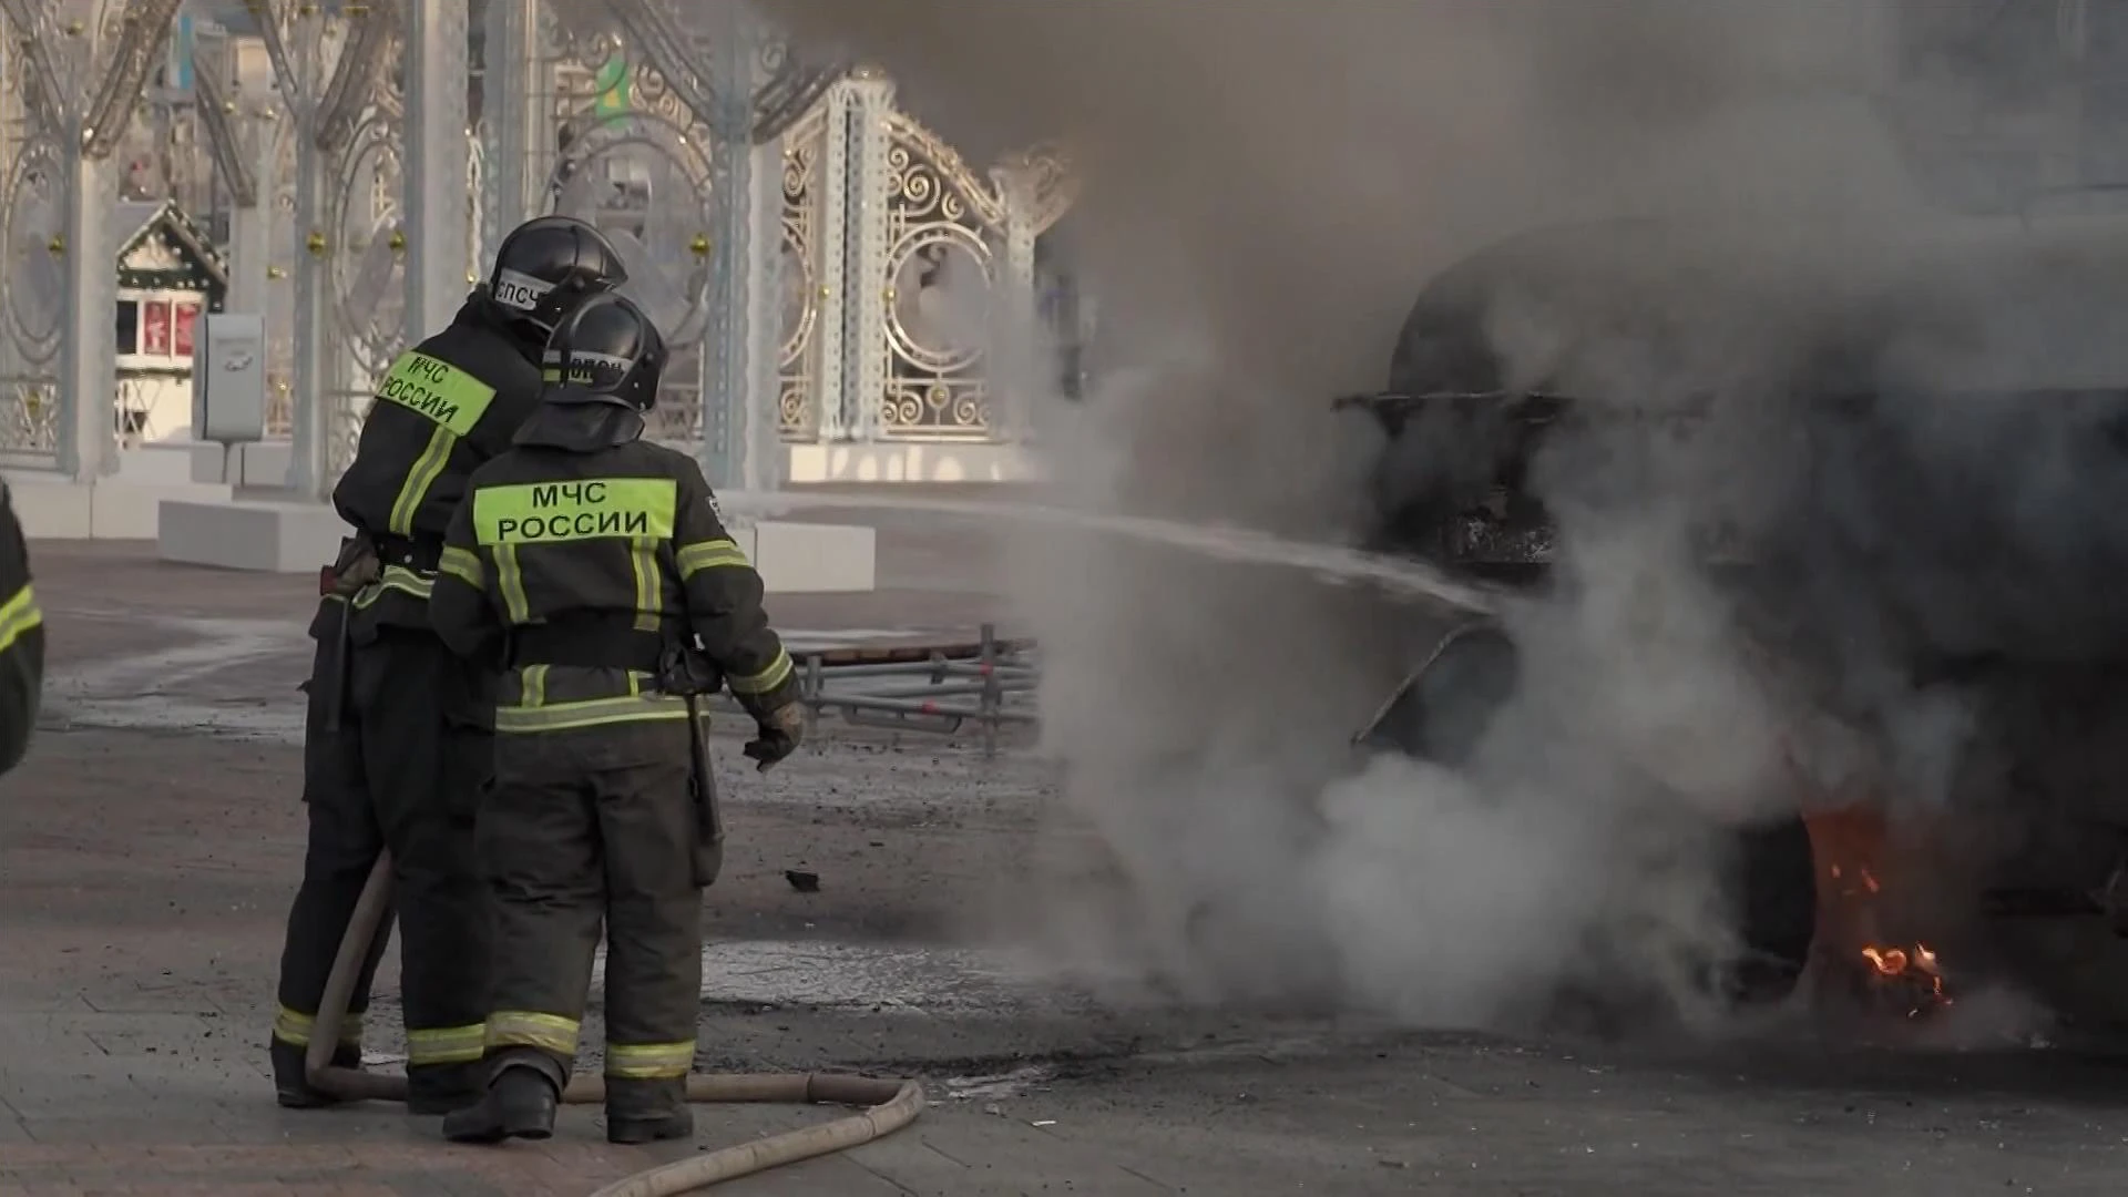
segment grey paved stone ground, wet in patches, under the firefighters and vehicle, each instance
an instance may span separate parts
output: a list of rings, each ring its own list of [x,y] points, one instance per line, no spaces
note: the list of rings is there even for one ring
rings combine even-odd
[[[1002,613],[990,558],[881,526],[890,590],[785,598],[779,622],[966,630]],[[130,545],[36,552],[55,677],[32,760],[0,782],[0,1195],[572,1197],[828,1116],[715,1108],[696,1144],[617,1150],[596,1112],[568,1112],[551,1144],[470,1150],[389,1108],[277,1110],[262,1044],[302,843],[289,711],[309,586]],[[1096,1001],[1013,948],[1036,850],[1077,835],[1041,763],[836,733],[726,782],[702,1067],[913,1071],[934,1099],[902,1135],[734,1195],[2128,1184],[2128,1065],[2102,1054],[1511,1042]],[[796,867],[819,892],[783,880]]]

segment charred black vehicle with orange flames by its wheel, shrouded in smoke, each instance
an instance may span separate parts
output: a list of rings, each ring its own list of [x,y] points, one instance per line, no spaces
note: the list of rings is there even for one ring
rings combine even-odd
[[[2128,933],[2128,219],[1539,230],[1434,277],[1339,409],[1385,439],[1373,547],[1504,611],[1362,745],[1470,769],[1545,684],[1511,611],[1617,526],[1719,596],[1792,745],[1722,829],[1734,997],[1922,1014],[2039,922]]]

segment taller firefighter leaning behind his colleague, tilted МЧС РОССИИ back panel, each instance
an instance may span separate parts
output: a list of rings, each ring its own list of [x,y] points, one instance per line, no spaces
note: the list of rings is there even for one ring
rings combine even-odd
[[[321,1105],[302,1054],[355,897],[392,850],[406,1020],[409,1108],[443,1114],[479,1097],[487,892],[472,811],[494,760],[485,677],[428,624],[443,532],[475,466],[509,449],[538,407],[541,354],[587,296],[626,281],[592,226],[538,217],[496,251],[449,328],[400,354],[377,388],[355,460],[332,492],[355,528],[326,571],[311,624],[304,735],[309,848],[281,952],[272,1029],[283,1105]],[[360,1067],[379,933],[334,1061]]]

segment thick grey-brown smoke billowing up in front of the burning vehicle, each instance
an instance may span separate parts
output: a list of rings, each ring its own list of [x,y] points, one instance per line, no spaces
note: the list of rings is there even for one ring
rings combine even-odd
[[[1556,294],[1490,313],[1517,383],[1681,398],[1764,377],[1813,328],[1851,262],[1828,222],[1922,204],[1871,100],[1894,60],[1875,0],[764,6],[883,66],[960,145],[1077,147],[1087,190],[1060,236],[1100,300],[1104,383],[1083,405],[1034,398],[1049,486],[1087,509],[1351,537],[1381,445],[1326,400],[1383,386],[1419,283],[1458,258],[1539,226],[1717,217],[1692,247],[1643,249],[1749,249],[1792,302],[1617,300],[1641,322],[1713,319],[1694,360],[1573,356]],[[1783,797],[1783,692],[1683,537],[1688,505],[1792,498],[1785,458],[1747,422],[1732,434],[1632,462],[1624,490],[1615,460],[1549,462],[1573,601],[1511,618],[1539,699],[1462,775],[1345,745],[1449,616],[1275,569],[1028,541],[1047,748],[1124,888],[1102,948],[1207,997],[1430,1020],[1511,1016],[1590,971],[1670,986],[1724,933],[1709,816]]]

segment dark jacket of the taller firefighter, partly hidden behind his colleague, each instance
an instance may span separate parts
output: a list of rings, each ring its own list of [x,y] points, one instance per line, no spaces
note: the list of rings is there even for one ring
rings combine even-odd
[[[428,626],[428,594],[466,479],[511,447],[538,409],[541,345],[477,290],[451,324],[398,356],[377,386],[332,505],[379,545],[379,575],[351,598],[351,630]],[[319,622],[330,611],[319,613]],[[313,626],[313,635],[323,628]]]

